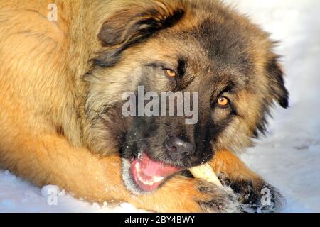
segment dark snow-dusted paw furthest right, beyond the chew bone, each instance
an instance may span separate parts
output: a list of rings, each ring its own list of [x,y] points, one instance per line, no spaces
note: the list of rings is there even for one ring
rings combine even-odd
[[[229,182],[237,194],[240,210],[246,213],[277,213],[282,210],[284,197],[262,179]]]

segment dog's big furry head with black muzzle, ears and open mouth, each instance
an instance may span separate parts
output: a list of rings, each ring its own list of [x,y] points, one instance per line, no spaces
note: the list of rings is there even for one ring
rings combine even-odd
[[[273,101],[288,105],[267,34],[215,1],[142,1],[107,18],[98,38],[103,50],[85,77],[87,143],[98,153],[120,152],[134,193],[154,191],[215,150],[250,145]],[[139,86],[159,103],[161,92],[190,94],[196,121],[176,112],[124,116],[122,94],[139,94]]]

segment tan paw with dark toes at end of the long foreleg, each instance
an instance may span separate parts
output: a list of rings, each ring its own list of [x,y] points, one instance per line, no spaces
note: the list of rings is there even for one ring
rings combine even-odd
[[[199,181],[198,191],[201,192],[201,198],[197,198],[203,212],[209,213],[238,213],[238,202],[236,196],[230,190],[223,190],[215,184]]]

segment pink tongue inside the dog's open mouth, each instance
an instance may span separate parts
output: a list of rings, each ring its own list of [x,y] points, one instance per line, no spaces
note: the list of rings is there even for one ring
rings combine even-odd
[[[149,177],[168,177],[169,175],[172,175],[175,172],[181,170],[178,167],[166,165],[163,162],[156,162],[154,160],[151,160],[151,158],[149,158],[148,155],[146,155],[145,153],[142,153],[140,167],[144,175],[147,175]]]

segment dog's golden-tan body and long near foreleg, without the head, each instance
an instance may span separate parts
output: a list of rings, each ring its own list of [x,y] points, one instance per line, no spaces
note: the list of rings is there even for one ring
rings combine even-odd
[[[75,87],[83,86],[78,78],[89,70],[85,61],[97,48],[96,34],[87,33],[97,16],[86,2],[57,1],[65,11],[58,11],[54,23],[46,18],[52,1],[0,1],[1,165],[39,186],[58,184],[88,200],[129,201],[154,211],[201,211],[194,201],[202,196],[194,180],[171,179],[156,194],[137,199],[124,188],[121,175],[114,175],[121,172],[119,157],[101,159],[72,146],[83,144],[76,108],[82,94]],[[78,4],[80,10],[73,11]],[[80,23],[83,15],[92,21]]]

